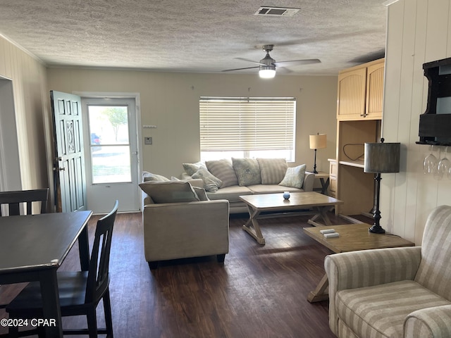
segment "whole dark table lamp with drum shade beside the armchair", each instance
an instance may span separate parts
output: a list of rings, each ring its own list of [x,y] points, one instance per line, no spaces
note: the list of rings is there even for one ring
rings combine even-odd
[[[373,213],[374,224],[369,228],[369,232],[375,234],[385,234],[381,227],[381,211],[379,210],[379,200],[381,195],[381,173],[400,172],[400,143],[365,143],[364,173],[375,173],[376,181],[376,210]]]

